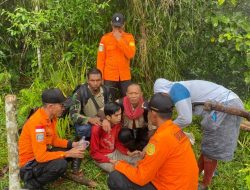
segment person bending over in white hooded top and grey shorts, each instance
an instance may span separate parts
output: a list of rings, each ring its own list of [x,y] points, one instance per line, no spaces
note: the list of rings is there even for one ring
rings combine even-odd
[[[203,139],[198,165],[199,173],[204,170],[204,177],[199,189],[207,189],[212,181],[218,160],[230,161],[233,159],[241,118],[215,110],[205,111],[203,106],[196,105],[213,101],[225,106],[243,108],[242,101],[231,90],[203,80],[171,82],[162,78],[157,79],[154,84],[154,93],[159,92],[167,93],[171,97],[178,114],[174,123],[181,128],[192,122],[192,105],[194,114],[203,117],[201,121]]]

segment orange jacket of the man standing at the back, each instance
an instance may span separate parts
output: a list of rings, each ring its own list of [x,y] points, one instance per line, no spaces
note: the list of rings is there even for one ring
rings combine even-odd
[[[105,34],[99,44],[97,68],[104,80],[130,80],[130,59],[135,56],[135,40],[132,34],[122,32],[120,40],[113,33]]]

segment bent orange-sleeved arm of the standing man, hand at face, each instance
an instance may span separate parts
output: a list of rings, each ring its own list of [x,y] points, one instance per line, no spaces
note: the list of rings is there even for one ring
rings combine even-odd
[[[135,40],[131,34],[127,38],[122,35],[117,40],[117,45],[128,59],[132,59],[135,56]]]

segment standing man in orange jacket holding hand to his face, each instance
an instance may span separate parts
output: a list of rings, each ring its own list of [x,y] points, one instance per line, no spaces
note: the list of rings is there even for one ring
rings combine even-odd
[[[111,25],[112,32],[105,34],[99,44],[97,68],[114,98],[116,88],[120,89],[122,96],[126,95],[131,80],[130,59],[135,56],[135,41],[132,34],[124,32],[124,16],[121,13],[113,15]]]

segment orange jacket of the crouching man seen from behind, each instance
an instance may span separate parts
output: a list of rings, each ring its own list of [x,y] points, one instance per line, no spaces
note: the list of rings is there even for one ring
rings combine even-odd
[[[162,124],[151,137],[145,157],[137,166],[119,161],[115,169],[138,185],[151,182],[158,190],[198,188],[198,167],[191,144],[171,120]]]

